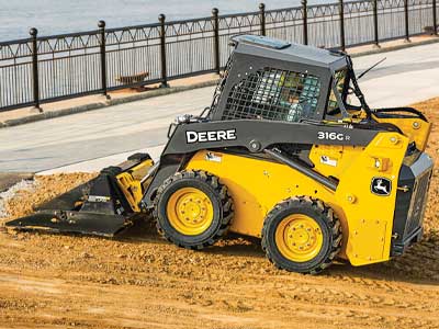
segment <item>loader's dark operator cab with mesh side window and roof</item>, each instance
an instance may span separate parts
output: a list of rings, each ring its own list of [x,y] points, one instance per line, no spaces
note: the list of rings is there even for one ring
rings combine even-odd
[[[212,121],[322,121],[344,102],[346,54],[257,35],[235,36],[232,43]]]

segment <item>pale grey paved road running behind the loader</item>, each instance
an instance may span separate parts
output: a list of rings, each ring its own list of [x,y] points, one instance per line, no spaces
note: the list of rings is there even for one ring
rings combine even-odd
[[[360,80],[371,106],[397,106],[439,95],[439,43],[354,58],[358,72],[387,59]],[[147,99],[0,129],[0,171],[42,171],[162,145],[179,114],[200,113],[213,88]],[[157,149],[157,148],[155,148]]]

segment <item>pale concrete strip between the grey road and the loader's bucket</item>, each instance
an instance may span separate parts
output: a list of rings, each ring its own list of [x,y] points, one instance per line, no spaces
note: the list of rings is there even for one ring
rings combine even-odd
[[[147,152],[149,156],[157,161],[160,158],[161,151],[164,150],[165,145],[159,145],[155,147],[142,148],[138,150],[133,150],[128,152],[112,155],[103,158],[92,159],[88,161],[82,161],[69,166],[58,167],[45,171],[37,172],[40,175],[47,175],[54,173],[71,173],[71,172],[98,172],[101,169],[109,166],[116,166],[126,160],[133,154],[136,152]]]

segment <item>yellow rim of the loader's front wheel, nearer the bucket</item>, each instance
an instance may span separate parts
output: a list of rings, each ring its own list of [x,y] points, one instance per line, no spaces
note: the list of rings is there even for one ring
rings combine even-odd
[[[180,234],[196,236],[204,232],[213,222],[213,205],[209,196],[194,188],[176,191],[167,204],[171,226]]]

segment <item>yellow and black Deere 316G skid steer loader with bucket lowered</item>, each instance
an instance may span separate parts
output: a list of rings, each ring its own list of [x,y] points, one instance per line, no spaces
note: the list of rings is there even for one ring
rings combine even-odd
[[[426,117],[370,109],[344,53],[252,35],[232,44],[212,105],[170,125],[159,161],[133,155],[8,225],[113,236],[151,214],[177,246],[237,232],[260,238],[277,266],[313,274],[418,241]]]

